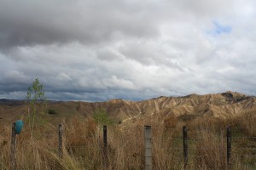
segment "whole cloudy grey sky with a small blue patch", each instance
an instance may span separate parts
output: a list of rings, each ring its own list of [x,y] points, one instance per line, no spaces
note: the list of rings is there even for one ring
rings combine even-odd
[[[256,95],[256,1],[0,0],[0,99]]]

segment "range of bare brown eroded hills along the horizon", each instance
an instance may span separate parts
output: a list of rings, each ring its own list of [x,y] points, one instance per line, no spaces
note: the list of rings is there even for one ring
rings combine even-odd
[[[65,121],[73,116],[86,118],[96,108],[105,108],[115,122],[136,123],[150,119],[165,120],[170,116],[213,116],[226,118],[239,116],[243,111],[256,109],[256,98],[236,92],[222,94],[190,94],[183,97],[161,96],[143,101],[110,99],[105,102],[49,102],[49,109],[55,111],[53,117]],[[11,122],[26,113],[25,100],[0,99],[0,122]]]

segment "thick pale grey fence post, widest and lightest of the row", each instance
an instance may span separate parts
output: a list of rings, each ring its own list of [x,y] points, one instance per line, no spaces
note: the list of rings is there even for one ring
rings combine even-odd
[[[151,126],[144,126],[145,170],[152,170],[151,139]]]

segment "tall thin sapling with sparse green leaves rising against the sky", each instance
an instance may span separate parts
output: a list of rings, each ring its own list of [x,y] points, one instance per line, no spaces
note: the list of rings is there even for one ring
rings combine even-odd
[[[28,101],[28,115],[26,120],[32,135],[35,123],[42,122],[42,118],[39,116],[44,115],[47,106],[47,98],[44,96],[43,88],[44,85],[39,82],[38,78],[36,78],[36,80],[32,82],[32,87],[27,89],[26,99]],[[37,119],[36,115],[38,115]]]

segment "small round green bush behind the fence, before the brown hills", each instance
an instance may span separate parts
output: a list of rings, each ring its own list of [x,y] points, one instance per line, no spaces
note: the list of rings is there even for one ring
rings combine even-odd
[[[92,117],[95,120],[97,125],[102,126],[102,125],[111,125],[111,124],[113,124],[113,121],[108,116],[107,111],[103,108],[96,109],[96,111],[93,112]]]

